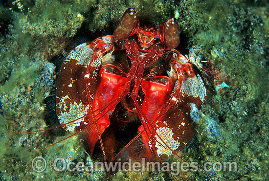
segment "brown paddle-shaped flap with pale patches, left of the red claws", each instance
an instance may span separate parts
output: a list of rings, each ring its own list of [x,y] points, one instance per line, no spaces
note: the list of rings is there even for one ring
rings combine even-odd
[[[74,131],[89,109],[84,75],[92,57],[92,49],[85,43],[70,52],[63,62],[56,87],[56,112],[61,124],[69,123],[68,131]]]

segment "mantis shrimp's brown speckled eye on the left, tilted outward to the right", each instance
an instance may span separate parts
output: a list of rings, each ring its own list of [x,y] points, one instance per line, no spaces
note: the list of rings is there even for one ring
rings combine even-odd
[[[114,37],[117,40],[125,40],[135,28],[137,13],[134,8],[128,8],[122,15],[114,30]]]

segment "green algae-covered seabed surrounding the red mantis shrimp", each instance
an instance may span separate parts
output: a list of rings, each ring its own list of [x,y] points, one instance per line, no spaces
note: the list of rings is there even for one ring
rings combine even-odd
[[[235,161],[238,165],[236,172],[210,172],[211,175],[180,172],[176,178],[268,180],[269,3],[266,0],[2,1],[0,179],[173,179],[162,172],[117,172],[114,175],[56,172],[53,169],[55,158],[67,161],[98,158],[89,157],[76,136],[42,149],[67,134],[57,135],[53,130],[14,134],[47,128],[44,100],[56,78],[56,56],[66,56],[70,44],[76,44],[78,37],[92,41],[112,34],[128,7],[139,12],[140,20],[153,25],[163,24],[167,18],[175,16],[180,27],[179,51],[198,61],[195,65],[206,84],[207,103],[199,111],[201,120],[195,123],[199,148],[181,157],[199,164]],[[208,62],[214,66],[206,66]],[[229,87],[217,87],[223,82]],[[205,124],[203,120],[207,119],[211,121]],[[211,129],[211,133],[205,128]],[[42,173],[36,173],[31,167],[32,159],[38,156],[47,161]]]

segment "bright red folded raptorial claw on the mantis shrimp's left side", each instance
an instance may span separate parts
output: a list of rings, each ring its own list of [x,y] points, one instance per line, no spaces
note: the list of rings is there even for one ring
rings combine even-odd
[[[112,100],[114,100],[123,90],[124,84],[126,82],[126,73],[122,72],[119,68],[113,65],[106,65],[100,70],[100,82],[95,90],[94,98],[92,102],[93,111],[98,110]],[[97,120],[96,124],[98,126],[99,134],[102,135],[105,129],[110,125],[109,116],[114,111],[115,106],[108,106],[104,109],[103,116],[95,116],[94,114],[89,114],[89,120],[91,117],[95,116],[94,120]],[[87,124],[91,124],[90,121]],[[85,126],[84,123],[82,126]],[[89,126],[86,131],[88,149],[90,154],[93,152],[93,148],[98,141],[98,132],[94,124]]]

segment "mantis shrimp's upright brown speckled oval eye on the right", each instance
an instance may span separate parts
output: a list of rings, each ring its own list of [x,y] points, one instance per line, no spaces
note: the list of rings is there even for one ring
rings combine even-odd
[[[179,45],[179,23],[176,18],[168,19],[163,25],[164,43],[169,48],[175,48]]]

